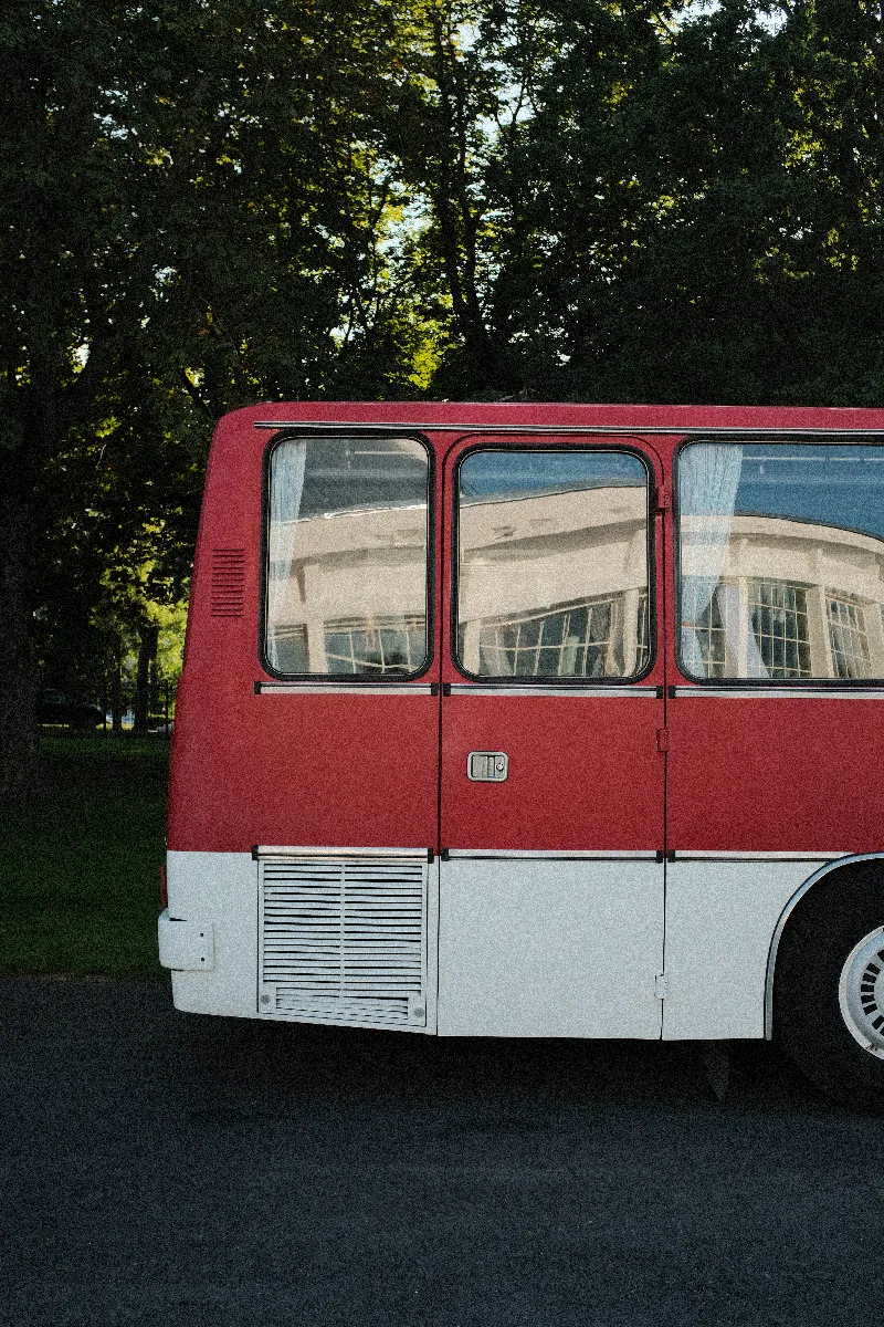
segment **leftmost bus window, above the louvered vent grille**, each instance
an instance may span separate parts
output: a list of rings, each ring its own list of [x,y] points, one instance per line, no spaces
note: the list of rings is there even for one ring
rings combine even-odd
[[[270,454],[265,652],[282,677],[427,665],[425,447],[289,438]]]

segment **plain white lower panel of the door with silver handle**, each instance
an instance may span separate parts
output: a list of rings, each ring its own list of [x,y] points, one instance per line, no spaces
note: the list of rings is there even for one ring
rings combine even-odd
[[[441,864],[439,1031],[659,1038],[663,864]]]

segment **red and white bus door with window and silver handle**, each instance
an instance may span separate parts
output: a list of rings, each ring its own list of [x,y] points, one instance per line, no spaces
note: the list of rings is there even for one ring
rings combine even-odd
[[[660,1035],[659,480],[634,439],[448,454],[443,1034]]]

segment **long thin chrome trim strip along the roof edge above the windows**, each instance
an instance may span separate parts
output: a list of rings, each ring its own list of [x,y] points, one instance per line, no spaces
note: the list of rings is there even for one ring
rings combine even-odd
[[[538,434],[571,435],[594,434],[608,438],[751,438],[763,442],[766,438],[884,438],[884,429],[728,429],[722,425],[700,427],[698,425],[506,425],[506,423],[419,423],[417,421],[391,419],[388,423],[364,423],[355,419],[258,419],[254,429],[353,429],[360,431],[392,433],[395,429],[414,429],[419,433],[489,433],[489,434]]]

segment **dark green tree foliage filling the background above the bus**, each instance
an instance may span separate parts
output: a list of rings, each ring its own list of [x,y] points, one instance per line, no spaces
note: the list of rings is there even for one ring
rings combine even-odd
[[[871,0],[8,7],[13,762],[34,658],[179,612],[231,407],[880,403],[883,50]]]

